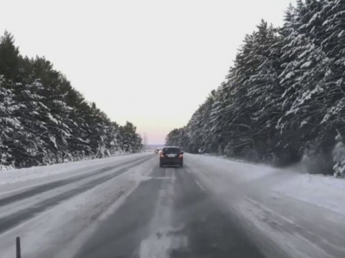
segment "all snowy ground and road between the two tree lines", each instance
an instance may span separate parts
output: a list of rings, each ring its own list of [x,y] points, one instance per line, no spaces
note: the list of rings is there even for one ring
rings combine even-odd
[[[153,153],[0,172],[0,257],[345,257],[345,182]]]

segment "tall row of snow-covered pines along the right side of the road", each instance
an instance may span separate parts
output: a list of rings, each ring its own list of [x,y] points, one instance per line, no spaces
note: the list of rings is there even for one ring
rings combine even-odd
[[[289,6],[246,35],[226,81],[167,144],[344,175],[345,1]]]

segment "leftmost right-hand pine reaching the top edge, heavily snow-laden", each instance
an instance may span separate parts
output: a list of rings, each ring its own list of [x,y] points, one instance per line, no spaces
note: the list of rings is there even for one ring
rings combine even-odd
[[[279,77],[285,92],[282,94],[284,114],[277,125],[281,138],[277,149],[286,162],[302,157],[320,130],[328,63],[317,39],[321,34],[321,10],[322,1],[300,3],[297,10],[290,10],[282,29],[284,71]]]

